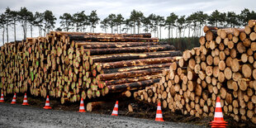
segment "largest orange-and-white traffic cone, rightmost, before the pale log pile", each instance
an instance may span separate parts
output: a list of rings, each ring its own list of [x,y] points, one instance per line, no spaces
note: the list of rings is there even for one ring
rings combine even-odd
[[[211,127],[225,127],[228,122],[224,121],[221,110],[220,97],[217,97],[216,108],[214,113],[214,121],[210,122]]]

